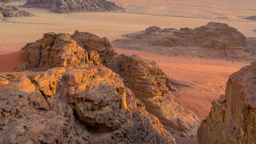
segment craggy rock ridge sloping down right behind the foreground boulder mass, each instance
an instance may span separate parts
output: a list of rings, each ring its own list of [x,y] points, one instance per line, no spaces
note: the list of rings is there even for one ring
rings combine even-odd
[[[154,61],[136,55],[118,57],[119,74],[125,86],[134,92],[146,106],[146,110],[158,117],[178,136],[194,137],[199,119],[189,109],[184,109],[174,101],[171,91],[176,91],[180,83],[169,78]]]

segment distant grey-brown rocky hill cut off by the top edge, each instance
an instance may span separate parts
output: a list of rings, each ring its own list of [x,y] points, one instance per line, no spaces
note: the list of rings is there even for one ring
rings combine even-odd
[[[54,13],[108,12],[123,9],[107,0],[27,0],[24,7],[44,8]]]

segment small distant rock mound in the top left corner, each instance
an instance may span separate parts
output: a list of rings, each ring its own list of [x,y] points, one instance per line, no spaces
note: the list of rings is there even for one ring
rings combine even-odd
[[[0,2],[0,13],[3,17],[32,17],[32,13],[27,11],[19,11],[17,7],[6,5],[3,2]],[[0,18],[1,18],[0,14]]]

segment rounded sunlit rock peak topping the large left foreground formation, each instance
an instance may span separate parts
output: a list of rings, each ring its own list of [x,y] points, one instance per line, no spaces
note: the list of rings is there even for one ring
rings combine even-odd
[[[87,52],[66,33],[46,33],[43,39],[27,44],[26,69],[72,67],[84,68],[99,65],[98,52]]]

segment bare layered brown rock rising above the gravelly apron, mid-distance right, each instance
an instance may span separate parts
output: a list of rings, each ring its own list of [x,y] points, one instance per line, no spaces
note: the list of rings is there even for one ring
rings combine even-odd
[[[234,49],[246,46],[246,37],[236,28],[223,23],[210,22],[206,26],[195,29],[181,28],[180,31],[175,29],[161,30],[158,27],[157,30],[147,29],[144,34],[156,32],[158,33],[156,36],[162,35],[163,38],[153,41],[152,45],[199,46],[209,49]]]

